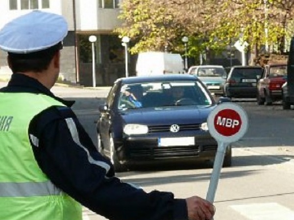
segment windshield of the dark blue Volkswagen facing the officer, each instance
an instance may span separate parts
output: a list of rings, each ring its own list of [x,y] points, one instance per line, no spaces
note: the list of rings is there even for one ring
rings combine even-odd
[[[198,81],[148,82],[122,86],[118,109],[207,106],[213,101]]]

